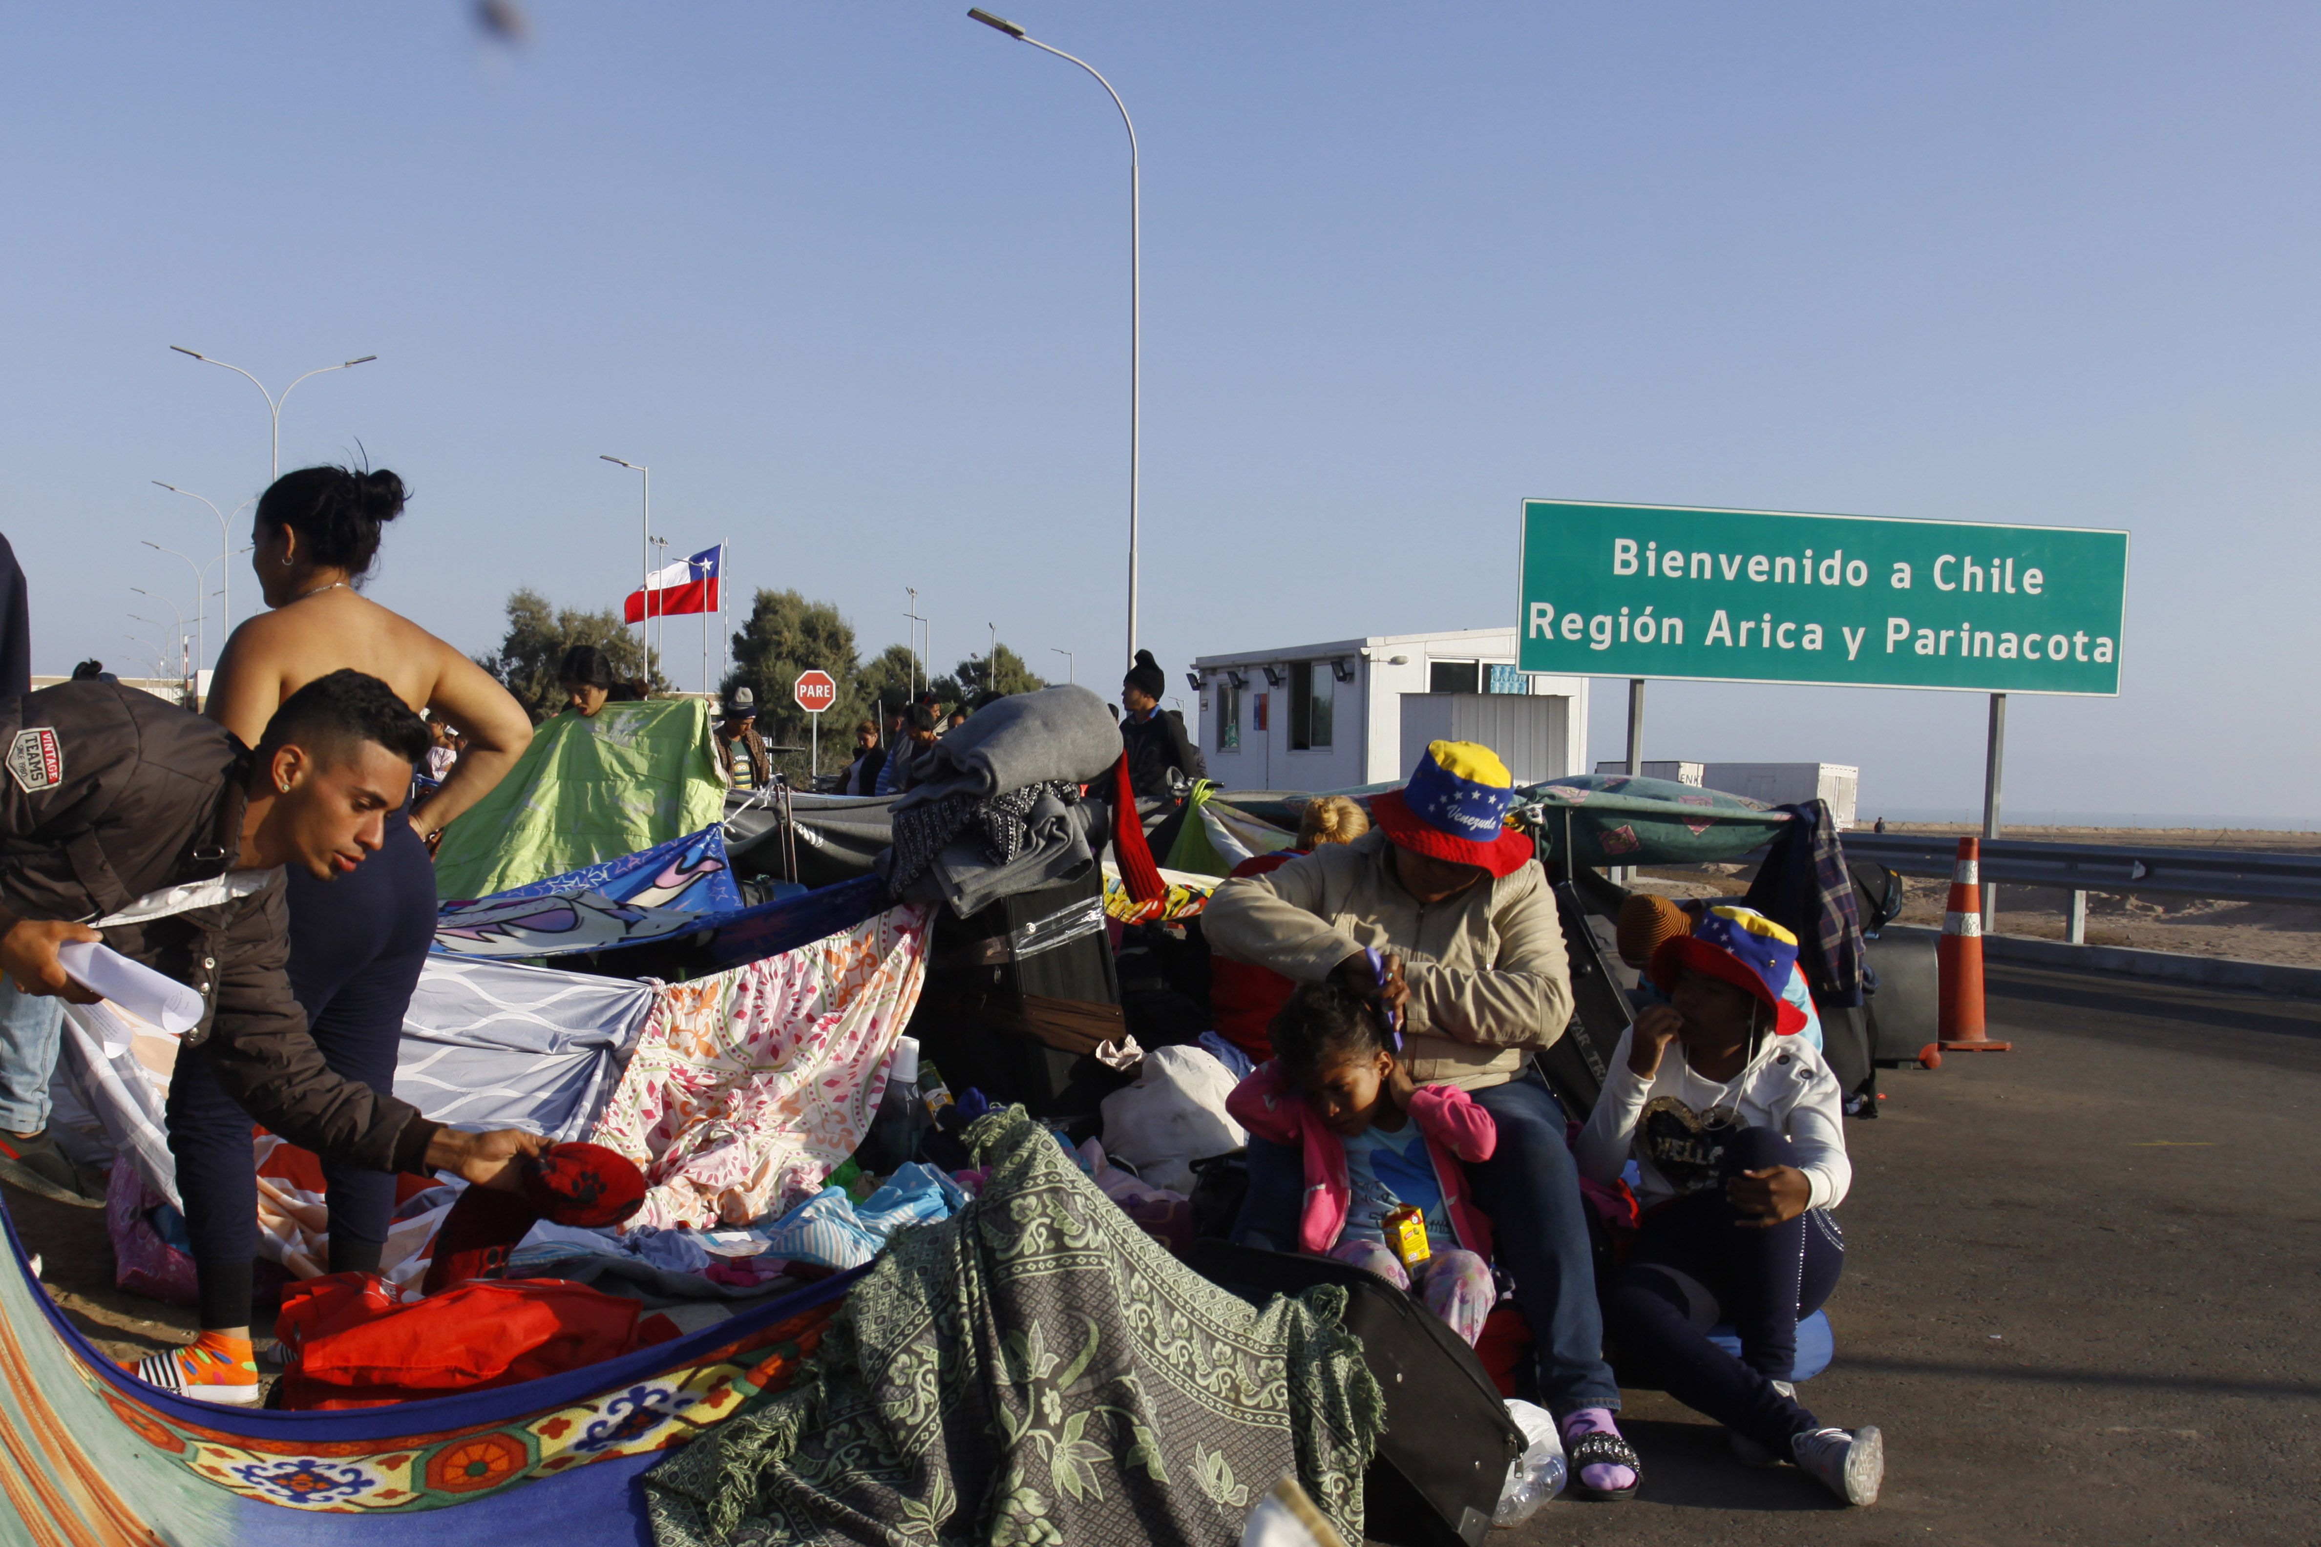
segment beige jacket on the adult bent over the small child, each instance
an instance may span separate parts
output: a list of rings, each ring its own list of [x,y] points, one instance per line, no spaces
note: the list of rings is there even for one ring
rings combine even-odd
[[[1323,844],[1279,870],[1225,881],[1200,916],[1209,949],[1318,983],[1369,946],[1411,986],[1411,1078],[1462,1090],[1506,1083],[1571,1021],[1571,967],[1539,865],[1420,907],[1395,881],[1388,837]]]

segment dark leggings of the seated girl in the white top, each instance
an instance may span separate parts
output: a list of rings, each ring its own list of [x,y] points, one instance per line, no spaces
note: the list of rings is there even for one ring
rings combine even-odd
[[[1725,1181],[1794,1164],[1796,1146],[1769,1127],[1725,1141]],[[1785,1457],[1789,1436],[1820,1422],[1771,1382],[1789,1378],[1796,1322],[1822,1308],[1843,1266],[1845,1236],[1829,1211],[1757,1229],[1736,1222],[1725,1188],[1694,1192],[1643,1215],[1604,1297],[1604,1327],[1622,1375]],[[1727,1320],[1741,1334],[1738,1359],[1708,1341]]]

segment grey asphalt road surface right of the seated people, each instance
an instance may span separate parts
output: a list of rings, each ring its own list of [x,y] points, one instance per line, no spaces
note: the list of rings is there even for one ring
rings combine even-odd
[[[1509,1542],[2321,1540],[2321,1004],[1991,967],[2015,1053],[1892,1069],[1854,1125],[1838,1361],[1887,1436],[1845,1510],[1657,1394],[1646,1491]]]

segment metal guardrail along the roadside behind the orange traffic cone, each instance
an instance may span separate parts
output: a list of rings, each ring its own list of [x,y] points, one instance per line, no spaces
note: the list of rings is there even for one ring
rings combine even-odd
[[[1959,858],[1957,837],[1857,830],[1845,833],[1843,844],[1850,860],[1878,860],[1889,870],[1917,877],[1947,877]],[[1982,842],[1982,881],[2082,893],[2168,893],[2321,907],[2321,854],[2040,844],[1989,837]]]

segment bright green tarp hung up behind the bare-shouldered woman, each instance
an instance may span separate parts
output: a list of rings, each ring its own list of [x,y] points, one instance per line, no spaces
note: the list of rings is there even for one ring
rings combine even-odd
[[[532,733],[499,789],[443,830],[436,895],[529,886],[699,833],[722,814],[703,700],[608,703],[594,719],[566,710]]]

